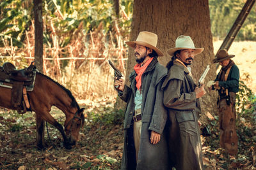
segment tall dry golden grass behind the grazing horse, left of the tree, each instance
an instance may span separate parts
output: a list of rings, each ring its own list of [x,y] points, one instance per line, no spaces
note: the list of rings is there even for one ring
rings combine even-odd
[[[108,35],[102,26],[86,35],[83,33],[83,24],[80,24],[70,35],[70,44],[61,47],[64,38],[56,34],[53,24],[45,26],[45,29],[52,32],[52,42],[44,45],[44,74],[70,89],[77,99],[93,101],[99,97],[113,97],[113,94],[116,95],[113,89],[113,69],[109,67],[108,59],[125,74],[127,48],[124,41],[128,39],[121,36],[118,25],[115,27],[115,31]],[[35,43],[33,32],[32,24],[26,34],[26,45],[19,50],[3,40],[5,46],[0,48],[0,57],[9,57],[3,58],[1,62],[12,62],[19,69],[28,66],[33,58],[25,58],[34,55],[34,47],[31,46]]]

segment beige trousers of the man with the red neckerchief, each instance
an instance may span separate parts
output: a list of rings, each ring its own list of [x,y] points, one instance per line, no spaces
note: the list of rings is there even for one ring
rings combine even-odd
[[[141,110],[136,110],[134,115],[140,115]],[[136,150],[136,161],[138,160],[138,153],[140,150],[140,136],[141,136],[141,120],[138,122],[134,122],[133,125],[133,138],[134,138],[134,145]]]

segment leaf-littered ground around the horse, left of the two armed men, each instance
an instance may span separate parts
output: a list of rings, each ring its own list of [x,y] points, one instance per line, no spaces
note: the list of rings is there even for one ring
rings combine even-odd
[[[45,150],[36,148],[35,113],[20,115],[0,110],[0,169],[119,169],[123,148],[121,113],[108,102],[80,104],[85,108],[84,127],[71,150],[50,124],[45,128]],[[63,125],[65,115],[52,108],[51,115]],[[119,115],[119,116],[118,116]],[[47,135],[49,132],[49,136]]]

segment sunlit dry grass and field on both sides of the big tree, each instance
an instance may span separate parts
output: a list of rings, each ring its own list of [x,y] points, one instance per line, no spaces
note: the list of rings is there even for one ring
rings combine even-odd
[[[51,27],[52,32],[54,28]],[[18,68],[22,68],[29,64],[33,59],[24,59],[25,56],[33,57],[34,44],[33,27],[27,32],[26,46],[24,49],[17,49],[11,45],[0,48],[0,57],[10,56],[3,61],[10,61]],[[90,32],[90,39],[86,39],[86,35],[82,34],[83,27],[74,33],[70,45],[61,48],[59,42],[62,41],[56,35],[52,35],[54,42],[52,46],[44,46],[44,58],[53,60],[44,60],[44,73],[54,80],[58,81],[67,89],[70,89],[77,99],[85,101],[96,101],[98,98],[114,99],[116,92],[113,89],[113,69],[108,66],[108,59],[112,59],[114,64],[125,72],[125,63],[127,58],[127,47],[120,32],[113,32],[109,37],[99,29]],[[214,53],[220,47],[222,41],[214,41]],[[246,85],[256,92],[256,74],[254,68],[256,62],[256,42],[240,41],[234,42],[228,51],[230,54],[236,55],[234,61],[240,69],[240,79]],[[21,58],[15,58],[15,56]],[[68,57],[70,60],[60,60],[60,58]],[[74,59],[72,59],[74,58]],[[78,58],[78,60],[77,60]],[[83,59],[81,59],[83,58]],[[64,67],[64,65],[66,66]]]

